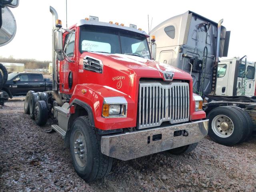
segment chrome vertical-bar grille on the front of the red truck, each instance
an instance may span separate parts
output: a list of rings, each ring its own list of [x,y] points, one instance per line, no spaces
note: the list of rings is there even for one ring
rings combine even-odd
[[[189,120],[189,84],[186,82],[140,82],[138,128]]]

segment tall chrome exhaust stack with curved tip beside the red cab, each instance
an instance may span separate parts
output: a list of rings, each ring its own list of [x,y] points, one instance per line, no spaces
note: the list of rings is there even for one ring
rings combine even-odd
[[[52,14],[52,90],[53,96],[57,101],[59,106],[62,106],[64,103],[58,92],[58,66],[56,66],[56,53],[54,52],[54,30],[56,29],[56,20],[58,19],[58,13],[56,10],[50,6],[50,12]]]

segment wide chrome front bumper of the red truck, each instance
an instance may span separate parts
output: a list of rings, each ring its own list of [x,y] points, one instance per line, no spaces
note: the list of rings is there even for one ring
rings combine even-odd
[[[174,136],[174,132],[182,135]],[[183,133],[188,133],[184,136]],[[102,136],[101,152],[120,160],[130,160],[153,153],[185,146],[202,140],[208,134],[208,120],[161,128]],[[186,135],[186,134],[185,134]]]

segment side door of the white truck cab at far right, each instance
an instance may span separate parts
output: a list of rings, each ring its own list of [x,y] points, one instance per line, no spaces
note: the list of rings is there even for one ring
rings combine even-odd
[[[230,62],[222,62],[218,64],[217,82],[216,82],[216,95],[227,95],[228,75],[229,75]]]

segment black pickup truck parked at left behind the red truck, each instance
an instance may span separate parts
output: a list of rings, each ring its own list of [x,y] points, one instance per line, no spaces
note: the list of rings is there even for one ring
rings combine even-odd
[[[10,73],[2,92],[6,100],[14,96],[26,96],[29,90],[44,92],[52,90],[52,81],[40,73]]]

